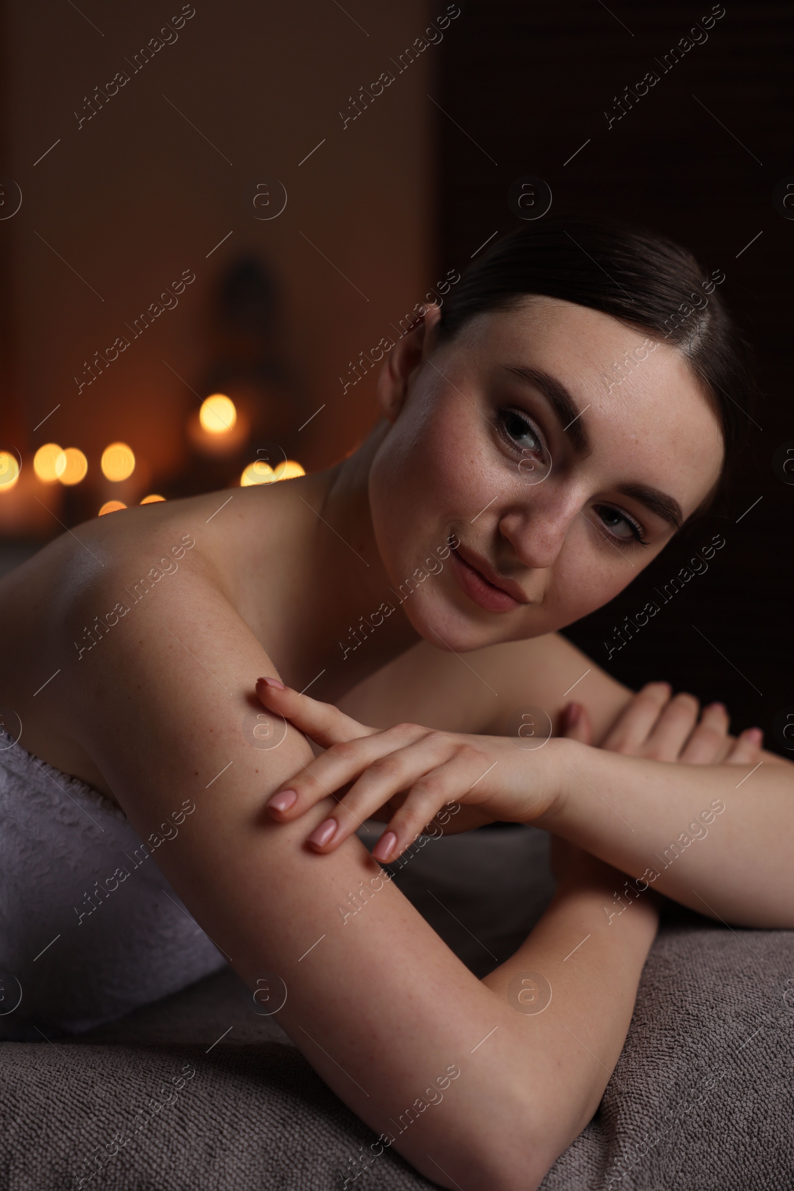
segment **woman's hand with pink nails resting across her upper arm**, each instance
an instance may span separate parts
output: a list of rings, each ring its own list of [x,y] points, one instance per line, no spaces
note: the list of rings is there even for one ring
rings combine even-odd
[[[343,792],[333,816],[308,836],[318,852],[332,852],[383,809],[388,830],[373,856],[387,862],[431,822],[446,827],[461,805],[474,812],[467,827],[477,827],[529,823],[555,802],[555,766],[549,763],[554,741],[529,752],[505,736],[467,736],[418,724],[381,731],[274,679],[260,679],[256,690],[270,711],[326,750],[273,794],[267,805],[274,818],[292,822],[326,794]]]

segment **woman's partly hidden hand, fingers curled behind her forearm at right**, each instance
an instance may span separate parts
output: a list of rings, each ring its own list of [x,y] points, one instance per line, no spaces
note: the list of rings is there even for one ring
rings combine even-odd
[[[763,732],[748,728],[738,740],[727,735],[729,715],[721,703],[704,707],[692,694],[673,696],[669,682],[648,682],[620,712],[601,748],[652,761],[688,765],[754,765],[761,759]],[[582,744],[592,743],[587,710],[569,703],[563,713],[562,735]]]

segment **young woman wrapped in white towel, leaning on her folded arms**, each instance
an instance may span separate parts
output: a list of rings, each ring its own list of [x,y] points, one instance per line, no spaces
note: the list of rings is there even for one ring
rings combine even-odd
[[[714,286],[658,238],[520,230],[393,347],[342,463],[104,517],[4,581],[0,960],[31,1019],[229,959],[382,1148],[525,1191],[598,1106],[657,892],[794,924],[788,763],[556,635],[719,486],[748,382]],[[524,748],[574,685],[580,738]],[[354,834],[375,815],[382,861],[433,819],[544,827],[555,900],[477,980]]]

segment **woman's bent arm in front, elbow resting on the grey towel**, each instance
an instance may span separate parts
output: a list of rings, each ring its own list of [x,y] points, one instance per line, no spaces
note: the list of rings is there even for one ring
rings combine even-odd
[[[74,585],[67,635],[127,582],[114,562]],[[306,848],[330,797],[300,822],[265,812],[312,752],[279,716],[262,723],[254,682],[274,667],[201,567],[149,591],[81,660],[62,635],[54,642],[71,735],[249,986],[283,981],[279,1022],[381,1145],[442,1186],[537,1186],[620,1050],[655,930],[650,905],[608,930],[598,923],[612,877],[564,888],[530,941],[480,981],[355,836],[323,858]],[[160,824],[185,798],[195,812],[167,838]],[[565,959],[587,934],[587,949]],[[525,969],[551,985],[542,1014],[517,1008]]]

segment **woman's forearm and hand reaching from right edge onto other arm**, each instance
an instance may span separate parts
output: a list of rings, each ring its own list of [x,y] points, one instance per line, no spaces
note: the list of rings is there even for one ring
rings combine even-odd
[[[261,697],[310,732],[313,718],[338,715],[295,692],[261,687]],[[639,697],[632,706],[642,706]],[[605,752],[565,738],[527,750],[523,743],[398,725],[333,744],[307,774],[283,784],[299,797],[280,813],[300,816],[315,798],[318,781],[325,790],[352,781],[342,809],[330,816],[338,824],[335,834],[310,840],[327,852],[355,830],[356,821],[394,799],[374,850],[388,860],[445,803],[459,802],[492,819],[546,828],[705,915],[739,925],[794,925],[788,854],[794,768],[788,762],[743,765],[740,749],[733,763],[701,765]],[[612,906],[624,904],[626,884],[614,891]]]

